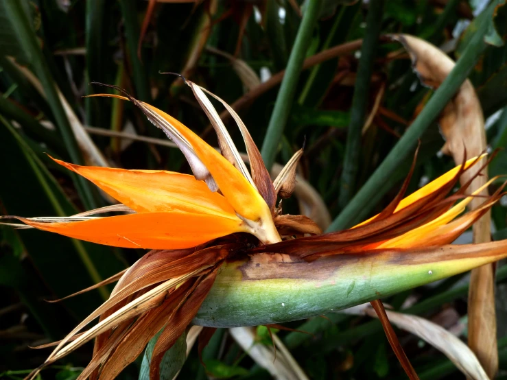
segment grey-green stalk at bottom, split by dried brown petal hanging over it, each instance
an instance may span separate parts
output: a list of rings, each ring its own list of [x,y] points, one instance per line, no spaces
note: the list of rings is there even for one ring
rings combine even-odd
[[[153,348],[156,340],[161,335],[163,329],[152,337],[143,353],[143,363],[139,371],[139,380],[150,380],[150,361],[152,360]],[[187,335],[184,333],[174,345],[167,350],[161,361],[160,380],[172,380],[180,371],[187,359]]]

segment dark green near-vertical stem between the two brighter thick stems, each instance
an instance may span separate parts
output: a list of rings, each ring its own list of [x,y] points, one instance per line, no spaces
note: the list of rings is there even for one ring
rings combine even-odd
[[[349,203],[355,188],[359,168],[359,153],[361,151],[361,132],[366,119],[370,78],[377,52],[383,10],[384,0],[370,1],[368,16],[366,17],[366,36],[364,36],[364,43],[361,47],[361,58],[359,59],[357,80],[355,81],[352,97],[351,122],[347,133],[340,197],[338,198],[340,209]]]

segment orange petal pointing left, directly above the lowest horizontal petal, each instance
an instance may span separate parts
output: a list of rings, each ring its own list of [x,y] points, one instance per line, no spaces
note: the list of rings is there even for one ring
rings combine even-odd
[[[210,215],[235,215],[219,193],[193,176],[163,170],[126,170],[111,167],[80,166],[56,160],[91,180],[119,202],[138,213],[186,211]]]

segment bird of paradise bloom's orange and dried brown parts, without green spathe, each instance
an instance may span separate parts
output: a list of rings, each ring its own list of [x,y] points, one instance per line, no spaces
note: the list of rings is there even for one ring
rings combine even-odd
[[[55,159],[91,180],[121,204],[71,217],[8,216],[19,219],[29,228],[97,244],[150,249],[128,270],[97,284],[117,281],[110,298],[57,342],[45,363],[30,377],[95,338],[93,357],[78,379],[114,379],[139,356],[148,341],[163,330],[150,362],[150,378],[158,379],[164,353],[185,333],[222,265],[231,259],[255,261],[260,255],[283,254],[298,262],[298,271],[304,271],[303,266],[309,268],[315,262],[362,268],[362,263],[371,263],[372,257],[373,260],[381,258],[380,263],[384,265],[381,270],[385,273],[384,279],[379,278],[379,281],[388,281],[386,277],[393,270],[410,275],[414,265],[443,262],[438,266],[438,274],[421,280],[419,285],[422,285],[507,257],[505,241],[462,246],[461,249],[446,246],[503,195],[502,186],[485,198],[480,207],[459,216],[473,197],[496,179],[467,195],[470,180],[449,195],[464,171],[487,165],[487,162],[482,163],[483,156],[464,161],[403,198],[410,182],[409,175],[384,211],[348,230],[322,235],[311,219],[303,215],[284,215],[281,205],[276,207],[277,198],[288,198],[294,190],[295,169],[302,151],[297,152],[272,181],[259,150],[236,112],[206,89],[193,82],[187,84],[217,132],[221,153],[173,117],[134,99],[121,88],[111,86],[125,96],[92,96],[133,102],[178,145],[193,176],[163,170],[84,167]],[[251,173],[206,93],[221,102],[237,122],[246,143]],[[95,216],[108,211],[127,213]],[[329,257],[333,261],[326,261]],[[447,261],[449,264],[445,265]],[[304,273],[300,275],[305,276]],[[346,281],[346,278],[339,281]],[[405,371],[415,379],[416,374],[392,334],[381,302],[370,301],[383,320],[386,335]],[[99,322],[82,331],[95,318],[99,318]],[[206,340],[211,337],[210,333],[202,335]]]

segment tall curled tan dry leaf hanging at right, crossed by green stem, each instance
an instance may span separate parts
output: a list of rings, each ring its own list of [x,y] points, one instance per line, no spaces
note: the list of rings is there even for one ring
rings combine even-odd
[[[443,51],[425,40],[406,34],[393,35],[392,38],[408,50],[414,71],[426,86],[438,88],[455,65]],[[469,80],[464,81],[458,93],[445,106],[438,121],[446,139],[442,150],[451,154],[456,163],[460,163],[465,154],[475,156],[486,150],[484,116]],[[464,173],[460,178],[462,185],[477,173],[477,169]],[[470,191],[475,191],[487,180],[486,169],[482,169],[482,175],[475,177]],[[487,189],[484,189],[480,195],[487,194]],[[475,198],[471,207],[474,209],[481,202],[481,198]],[[474,243],[491,241],[490,228],[488,212],[473,226]],[[469,344],[490,377],[495,375],[498,367],[493,276],[493,265],[473,270],[469,293]]]

